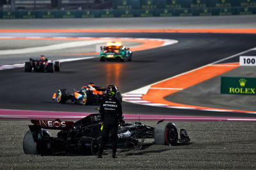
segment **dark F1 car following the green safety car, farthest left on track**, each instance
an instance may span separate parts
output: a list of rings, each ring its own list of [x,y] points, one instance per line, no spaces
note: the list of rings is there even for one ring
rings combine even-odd
[[[40,58],[30,58],[28,62],[25,62],[25,72],[60,72],[60,61],[48,62],[48,59],[44,56]]]

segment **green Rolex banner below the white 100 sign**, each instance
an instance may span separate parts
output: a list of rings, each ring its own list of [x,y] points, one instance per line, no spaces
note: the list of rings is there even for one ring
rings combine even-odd
[[[221,77],[221,93],[256,95],[256,78]]]

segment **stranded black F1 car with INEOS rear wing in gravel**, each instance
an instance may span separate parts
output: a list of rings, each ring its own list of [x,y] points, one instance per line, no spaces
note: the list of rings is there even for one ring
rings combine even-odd
[[[101,140],[100,114],[90,114],[83,119],[73,121],[61,120],[31,120],[23,140],[23,150],[26,154],[38,155],[95,155],[99,150]],[[47,128],[60,129],[57,137],[52,137]],[[189,143],[189,136],[184,129],[178,130],[173,123],[158,121],[156,128],[143,125],[140,122],[123,123],[118,127],[118,148],[140,149],[144,139],[152,138],[155,144],[175,145]],[[140,140],[140,141],[139,141]],[[111,148],[111,143],[106,148]]]

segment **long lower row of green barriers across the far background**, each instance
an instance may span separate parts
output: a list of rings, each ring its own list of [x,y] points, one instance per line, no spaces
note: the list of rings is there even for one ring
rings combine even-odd
[[[165,8],[147,10],[0,11],[0,19],[83,19],[113,17],[178,17],[211,15],[253,15],[256,6],[231,8]]]

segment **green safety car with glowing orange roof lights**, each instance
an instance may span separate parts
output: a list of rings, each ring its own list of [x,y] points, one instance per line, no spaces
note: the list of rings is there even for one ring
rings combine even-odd
[[[132,52],[122,43],[111,42],[107,46],[100,47],[100,61],[132,61]]]

